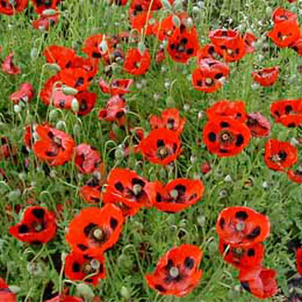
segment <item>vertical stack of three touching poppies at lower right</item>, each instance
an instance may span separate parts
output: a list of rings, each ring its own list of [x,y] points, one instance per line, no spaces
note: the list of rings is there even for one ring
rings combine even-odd
[[[223,259],[239,269],[242,287],[259,299],[272,297],[278,289],[276,271],[262,266],[262,241],[269,231],[268,217],[249,207],[227,207],[217,218],[216,232]]]

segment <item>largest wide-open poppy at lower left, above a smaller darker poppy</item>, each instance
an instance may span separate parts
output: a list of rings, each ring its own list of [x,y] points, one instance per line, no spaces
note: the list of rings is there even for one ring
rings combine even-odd
[[[74,252],[101,255],[117,242],[123,223],[122,211],[113,204],[88,207],[71,220],[66,241]]]

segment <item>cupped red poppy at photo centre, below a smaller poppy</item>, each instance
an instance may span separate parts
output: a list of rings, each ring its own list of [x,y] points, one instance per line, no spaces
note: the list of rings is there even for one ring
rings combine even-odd
[[[158,128],[145,137],[137,149],[150,161],[160,165],[168,165],[181,152],[178,134],[172,130]]]

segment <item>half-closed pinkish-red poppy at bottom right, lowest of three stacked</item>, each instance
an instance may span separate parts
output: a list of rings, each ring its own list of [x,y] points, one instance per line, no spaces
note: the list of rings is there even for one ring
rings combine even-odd
[[[241,268],[238,279],[246,291],[259,299],[266,299],[278,291],[276,275],[275,270],[259,265],[254,268]]]

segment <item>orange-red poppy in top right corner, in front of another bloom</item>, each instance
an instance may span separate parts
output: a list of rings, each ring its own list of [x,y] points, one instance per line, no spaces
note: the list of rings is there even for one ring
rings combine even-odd
[[[300,38],[300,27],[297,20],[291,17],[288,20],[275,22],[273,29],[267,33],[267,36],[278,47],[288,47]]]

